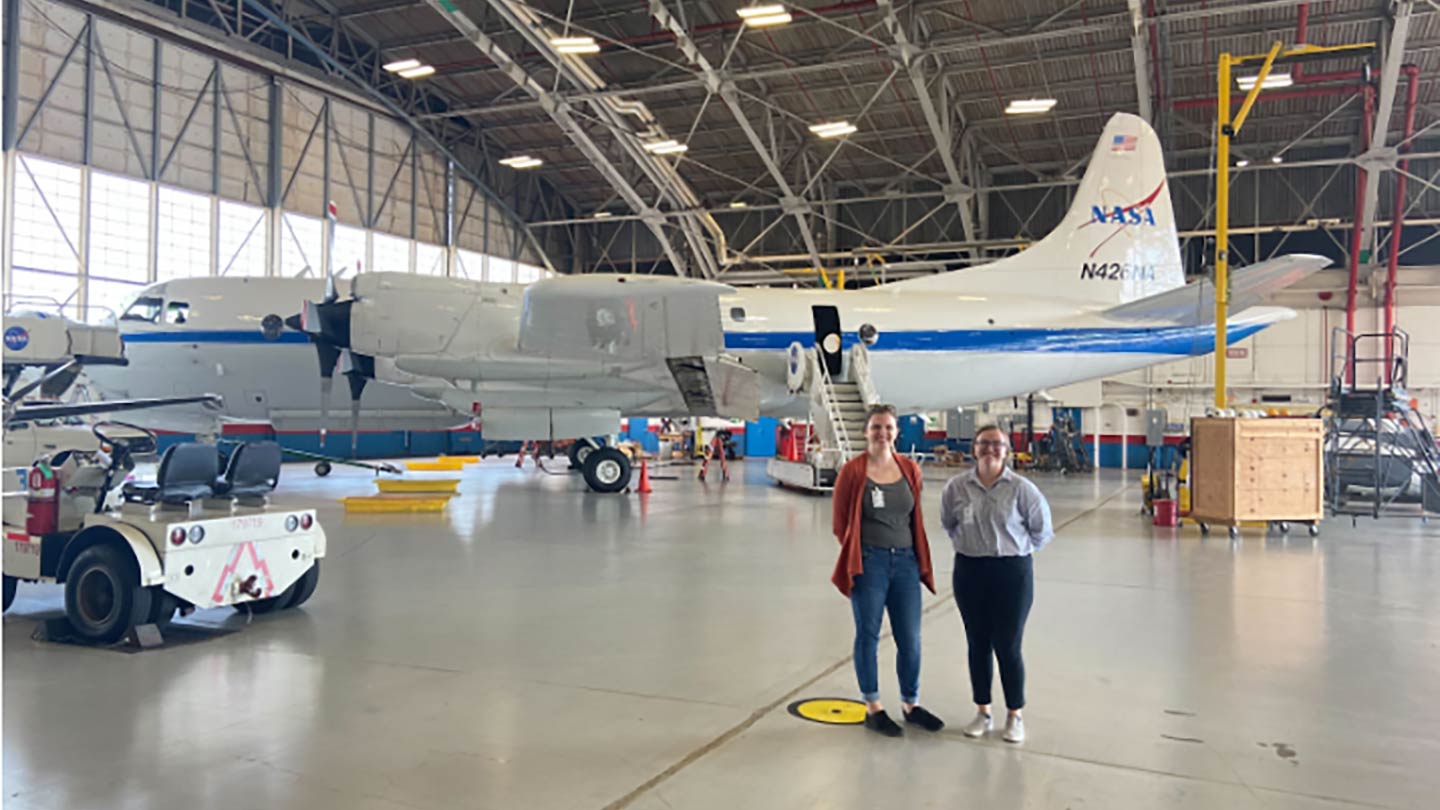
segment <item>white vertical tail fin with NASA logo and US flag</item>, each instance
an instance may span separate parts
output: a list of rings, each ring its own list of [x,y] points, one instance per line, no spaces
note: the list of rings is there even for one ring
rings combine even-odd
[[[1116,112],[1070,210],[1048,236],[986,265],[888,287],[1009,295],[1044,291],[1081,306],[1112,307],[1184,284],[1161,140],[1143,118]]]

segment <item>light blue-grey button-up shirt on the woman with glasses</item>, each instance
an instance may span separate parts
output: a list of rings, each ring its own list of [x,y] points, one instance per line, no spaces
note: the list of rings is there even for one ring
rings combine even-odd
[[[1056,536],[1040,487],[1009,468],[988,489],[975,470],[950,479],[940,493],[940,525],[965,556],[1024,556]]]

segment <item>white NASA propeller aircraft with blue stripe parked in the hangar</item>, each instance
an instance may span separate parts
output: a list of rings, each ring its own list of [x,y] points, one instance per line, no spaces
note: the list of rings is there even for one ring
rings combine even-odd
[[[1228,339],[1293,317],[1257,304],[1326,264],[1290,255],[1236,271]],[[307,301],[302,317],[289,320],[300,331],[285,331],[279,313],[317,293],[318,281],[158,285],[141,295],[156,317],[125,330],[130,385],[117,391],[148,391],[137,366],[150,347],[154,379],[179,383],[186,375],[177,368],[199,369],[206,379],[196,386],[223,393],[235,415],[266,418],[258,406],[294,399],[302,401],[297,412],[323,417],[312,382],[318,353],[323,370],[338,362],[348,376],[361,424],[372,408],[451,424],[478,415],[487,438],[560,440],[612,434],[622,415],[804,415],[806,398],[788,383],[796,355],[819,346],[827,368],[838,370],[841,352],[861,334],[880,398],[912,412],[1214,350],[1212,288],[1185,285],[1159,138],[1129,114],[1107,123],[1056,231],[976,268],[852,291],[742,291],[634,275],[521,288],[367,272],[350,282],[348,297]],[[184,323],[167,308],[174,295],[184,297]],[[233,306],[236,297],[246,304]],[[190,353],[166,355],[176,347]],[[249,396],[226,391],[226,376],[252,386]],[[390,385],[373,386],[377,396],[361,402],[367,379]],[[109,388],[101,376],[95,382]],[[406,392],[415,396],[390,402]],[[628,466],[624,480],[608,484],[624,489]]]

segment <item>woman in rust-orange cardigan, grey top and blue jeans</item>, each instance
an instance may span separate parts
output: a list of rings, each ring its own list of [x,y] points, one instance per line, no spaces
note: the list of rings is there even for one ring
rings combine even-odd
[[[865,699],[865,728],[900,736],[880,703],[880,623],[886,608],[894,631],[904,719],[926,731],[945,722],[920,706],[920,584],[935,592],[930,543],[920,517],[920,467],[894,451],[893,405],[871,405],[865,453],[835,479],[834,530],[840,559],[831,582],[850,597],[855,615],[855,677]]]

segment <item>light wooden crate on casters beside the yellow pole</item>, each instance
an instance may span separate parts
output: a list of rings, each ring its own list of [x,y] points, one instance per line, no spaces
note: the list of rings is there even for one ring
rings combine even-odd
[[[1323,517],[1322,419],[1197,418],[1191,438],[1192,520]]]

